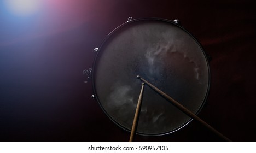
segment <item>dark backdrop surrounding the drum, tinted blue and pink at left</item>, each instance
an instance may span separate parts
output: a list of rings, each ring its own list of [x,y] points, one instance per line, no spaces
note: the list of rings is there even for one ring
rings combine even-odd
[[[1,142],[127,142],[85,84],[94,48],[133,19],[179,19],[212,56],[211,87],[199,116],[235,142],[255,142],[254,1],[43,1],[33,15],[0,9]],[[222,142],[192,121],[137,142]]]

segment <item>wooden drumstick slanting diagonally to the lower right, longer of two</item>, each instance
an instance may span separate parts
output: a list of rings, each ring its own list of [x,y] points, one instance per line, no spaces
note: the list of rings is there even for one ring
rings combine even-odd
[[[188,110],[187,108],[185,108],[182,104],[178,103],[177,101],[175,101],[173,98],[171,98],[170,96],[168,96],[166,93],[162,92],[161,90],[159,90],[157,87],[155,87],[154,85],[150,84],[148,81],[144,80],[143,78],[141,78],[139,75],[137,76],[137,79],[141,80],[143,83],[145,83],[146,85],[148,85],[151,89],[153,89],[156,93],[158,93],[161,97],[165,98],[168,102],[171,102],[175,107],[177,107],[179,110],[183,111],[183,113],[187,114],[189,117],[191,117],[192,119],[200,122],[203,126],[207,127],[208,129],[210,129],[212,132],[216,133],[219,137],[225,139],[227,142],[232,142],[229,138],[225,137],[222,133],[218,132],[217,130],[215,130],[213,127],[211,127],[210,125],[208,125],[205,121],[203,121],[202,119],[200,119],[199,117],[197,117],[194,113],[192,113],[190,110]]]

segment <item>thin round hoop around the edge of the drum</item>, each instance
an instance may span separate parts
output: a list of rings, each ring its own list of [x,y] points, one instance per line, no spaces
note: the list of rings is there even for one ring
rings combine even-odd
[[[92,88],[93,88],[93,91],[94,91],[94,96],[96,97],[96,100],[98,102],[98,104],[100,105],[101,109],[104,111],[104,114],[106,114],[110,120],[112,120],[116,125],[118,125],[120,128],[123,128],[123,130],[125,131],[128,131],[128,132],[131,132],[131,130],[129,128],[126,128],[124,127],[123,125],[121,125],[119,122],[115,121],[114,119],[112,119],[112,117],[107,113],[107,111],[103,108],[100,100],[98,99],[98,96],[97,96],[97,91],[96,91],[96,87],[95,87],[95,79],[94,79],[94,76],[96,75],[95,74],[95,67],[96,67],[96,62],[97,62],[97,57],[100,56],[99,52],[101,51],[101,48],[104,46],[104,44],[107,42],[107,40],[115,33],[117,32],[118,30],[120,30],[121,28],[127,26],[127,25],[130,25],[131,23],[134,23],[134,22],[139,22],[139,21],[161,21],[161,22],[168,22],[168,23],[171,23],[172,25],[174,26],[177,26],[179,28],[181,28],[183,31],[185,31],[186,33],[189,34],[189,36],[191,36],[195,42],[200,46],[202,52],[203,52],[203,55],[205,56],[205,59],[206,59],[206,63],[207,63],[207,69],[208,69],[208,86],[207,86],[207,91],[206,91],[206,95],[205,95],[205,98],[203,99],[203,102],[202,104],[200,105],[200,108],[196,111],[195,115],[199,114],[199,112],[202,110],[203,106],[205,105],[206,101],[207,101],[207,98],[208,98],[208,95],[209,95],[209,92],[210,92],[210,84],[211,84],[211,73],[210,73],[210,65],[209,65],[209,59],[208,59],[208,56],[205,52],[205,50],[203,49],[201,43],[196,39],[196,37],[191,34],[187,29],[185,29],[183,26],[175,23],[174,21],[172,20],[167,20],[167,19],[161,19],[161,18],[155,18],[155,17],[150,17],[150,18],[140,18],[140,19],[133,19],[131,21],[127,21],[123,24],[121,24],[120,26],[116,27],[112,32],[110,32],[103,40],[103,42],[101,43],[100,47],[98,48],[97,52],[96,52],[96,56],[94,57],[94,63],[93,63],[93,66],[92,66]],[[136,77],[136,76],[135,76]],[[137,132],[137,134],[141,135],[141,136],[164,136],[166,134],[170,134],[170,133],[173,133],[173,132],[176,132],[178,130],[180,130],[181,128],[183,128],[184,126],[188,125],[188,123],[190,123],[193,119],[189,119],[187,122],[183,123],[181,126],[175,128],[174,130],[172,131],[168,131],[168,132],[163,132],[163,133],[155,133],[155,134],[147,134],[147,133],[141,133],[141,132]]]

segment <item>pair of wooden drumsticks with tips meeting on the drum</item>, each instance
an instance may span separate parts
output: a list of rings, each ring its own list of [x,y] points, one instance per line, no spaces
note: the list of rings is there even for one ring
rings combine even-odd
[[[130,142],[133,142],[133,140],[135,138],[136,131],[137,131],[138,120],[139,120],[139,113],[141,111],[141,103],[142,103],[142,99],[143,99],[144,84],[148,85],[151,89],[153,89],[161,97],[165,98],[168,102],[172,103],[175,107],[177,107],[179,110],[183,111],[183,113],[187,114],[192,119],[200,122],[203,126],[207,127],[213,133],[217,134],[219,137],[223,138],[227,142],[231,142],[231,140],[229,138],[225,137],[222,133],[218,132],[216,129],[214,129],[213,127],[208,125],[205,121],[203,121],[202,119],[197,117],[194,113],[192,113],[190,110],[185,108],[182,104],[180,104],[177,101],[175,101],[172,97],[168,96],[166,93],[162,92],[157,87],[155,87],[154,85],[150,84],[148,81],[146,81],[143,78],[141,78],[139,75],[137,76],[137,79],[142,81],[142,88],[141,88],[141,93],[139,95],[135,116],[134,116],[134,119],[133,119],[131,136],[130,136]]]

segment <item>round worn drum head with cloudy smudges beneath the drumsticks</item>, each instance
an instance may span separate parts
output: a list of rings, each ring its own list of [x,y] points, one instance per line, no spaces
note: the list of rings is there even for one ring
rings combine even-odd
[[[93,67],[94,92],[104,112],[130,131],[142,78],[197,114],[210,85],[201,45],[183,27],[164,19],[139,19],[111,32],[98,49]],[[191,119],[145,86],[137,133],[167,134]]]

